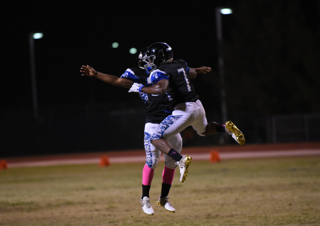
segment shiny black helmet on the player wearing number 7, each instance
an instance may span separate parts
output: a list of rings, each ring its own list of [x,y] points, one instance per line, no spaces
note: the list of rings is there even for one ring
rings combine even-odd
[[[151,72],[163,63],[171,62],[173,59],[172,48],[164,42],[151,44],[142,60],[146,62],[144,68],[146,72]]]

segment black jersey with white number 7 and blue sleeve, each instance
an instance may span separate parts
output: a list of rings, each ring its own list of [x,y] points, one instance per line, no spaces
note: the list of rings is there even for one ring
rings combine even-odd
[[[183,102],[194,102],[199,98],[189,79],[189,68],[184,60],[164,63],[150,73],[152,83],[161,79],[169,81],[167,96],[172,107]]]

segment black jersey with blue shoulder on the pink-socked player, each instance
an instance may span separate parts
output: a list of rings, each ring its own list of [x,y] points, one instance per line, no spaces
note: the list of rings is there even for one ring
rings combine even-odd
[[[128,78],[134,82],[150,85],[149,74],[141,68],[128,68],[121,75],[123,78]],[[140,98],[145,103],[145,123],[160,123],[166,116],[172,113],[172,107],[169,103],[166,94],[147,94],[145,92],[139,93]]]

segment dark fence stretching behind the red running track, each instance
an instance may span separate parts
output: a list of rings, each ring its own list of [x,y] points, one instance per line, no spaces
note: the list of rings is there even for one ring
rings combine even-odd
[[[207,111],[208,121],[219,115]],[[0,156],[143,149],[145,108],[128,103],[47,106],[34,119],[31,109],[0,111]],[[246,143],[320,141],[320,114],[234,116]],[[181,132],[183,146],[238,145],[227,135]]]

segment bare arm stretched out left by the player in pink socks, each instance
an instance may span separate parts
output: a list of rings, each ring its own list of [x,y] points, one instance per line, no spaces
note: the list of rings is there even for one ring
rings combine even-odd
[[[89,65],[86,65],[86,66],[82,65],[82,67],[80,68],[80,72],[82,73],[81,74],[82,76],[86,75],[86,76],[96,77],[106,83],[116,85],[116,86],[121,86],[124,88],[130,88],[133,84],[133,81],[131,80],[98,72],[94,70],[92,67],[90,67]]]

